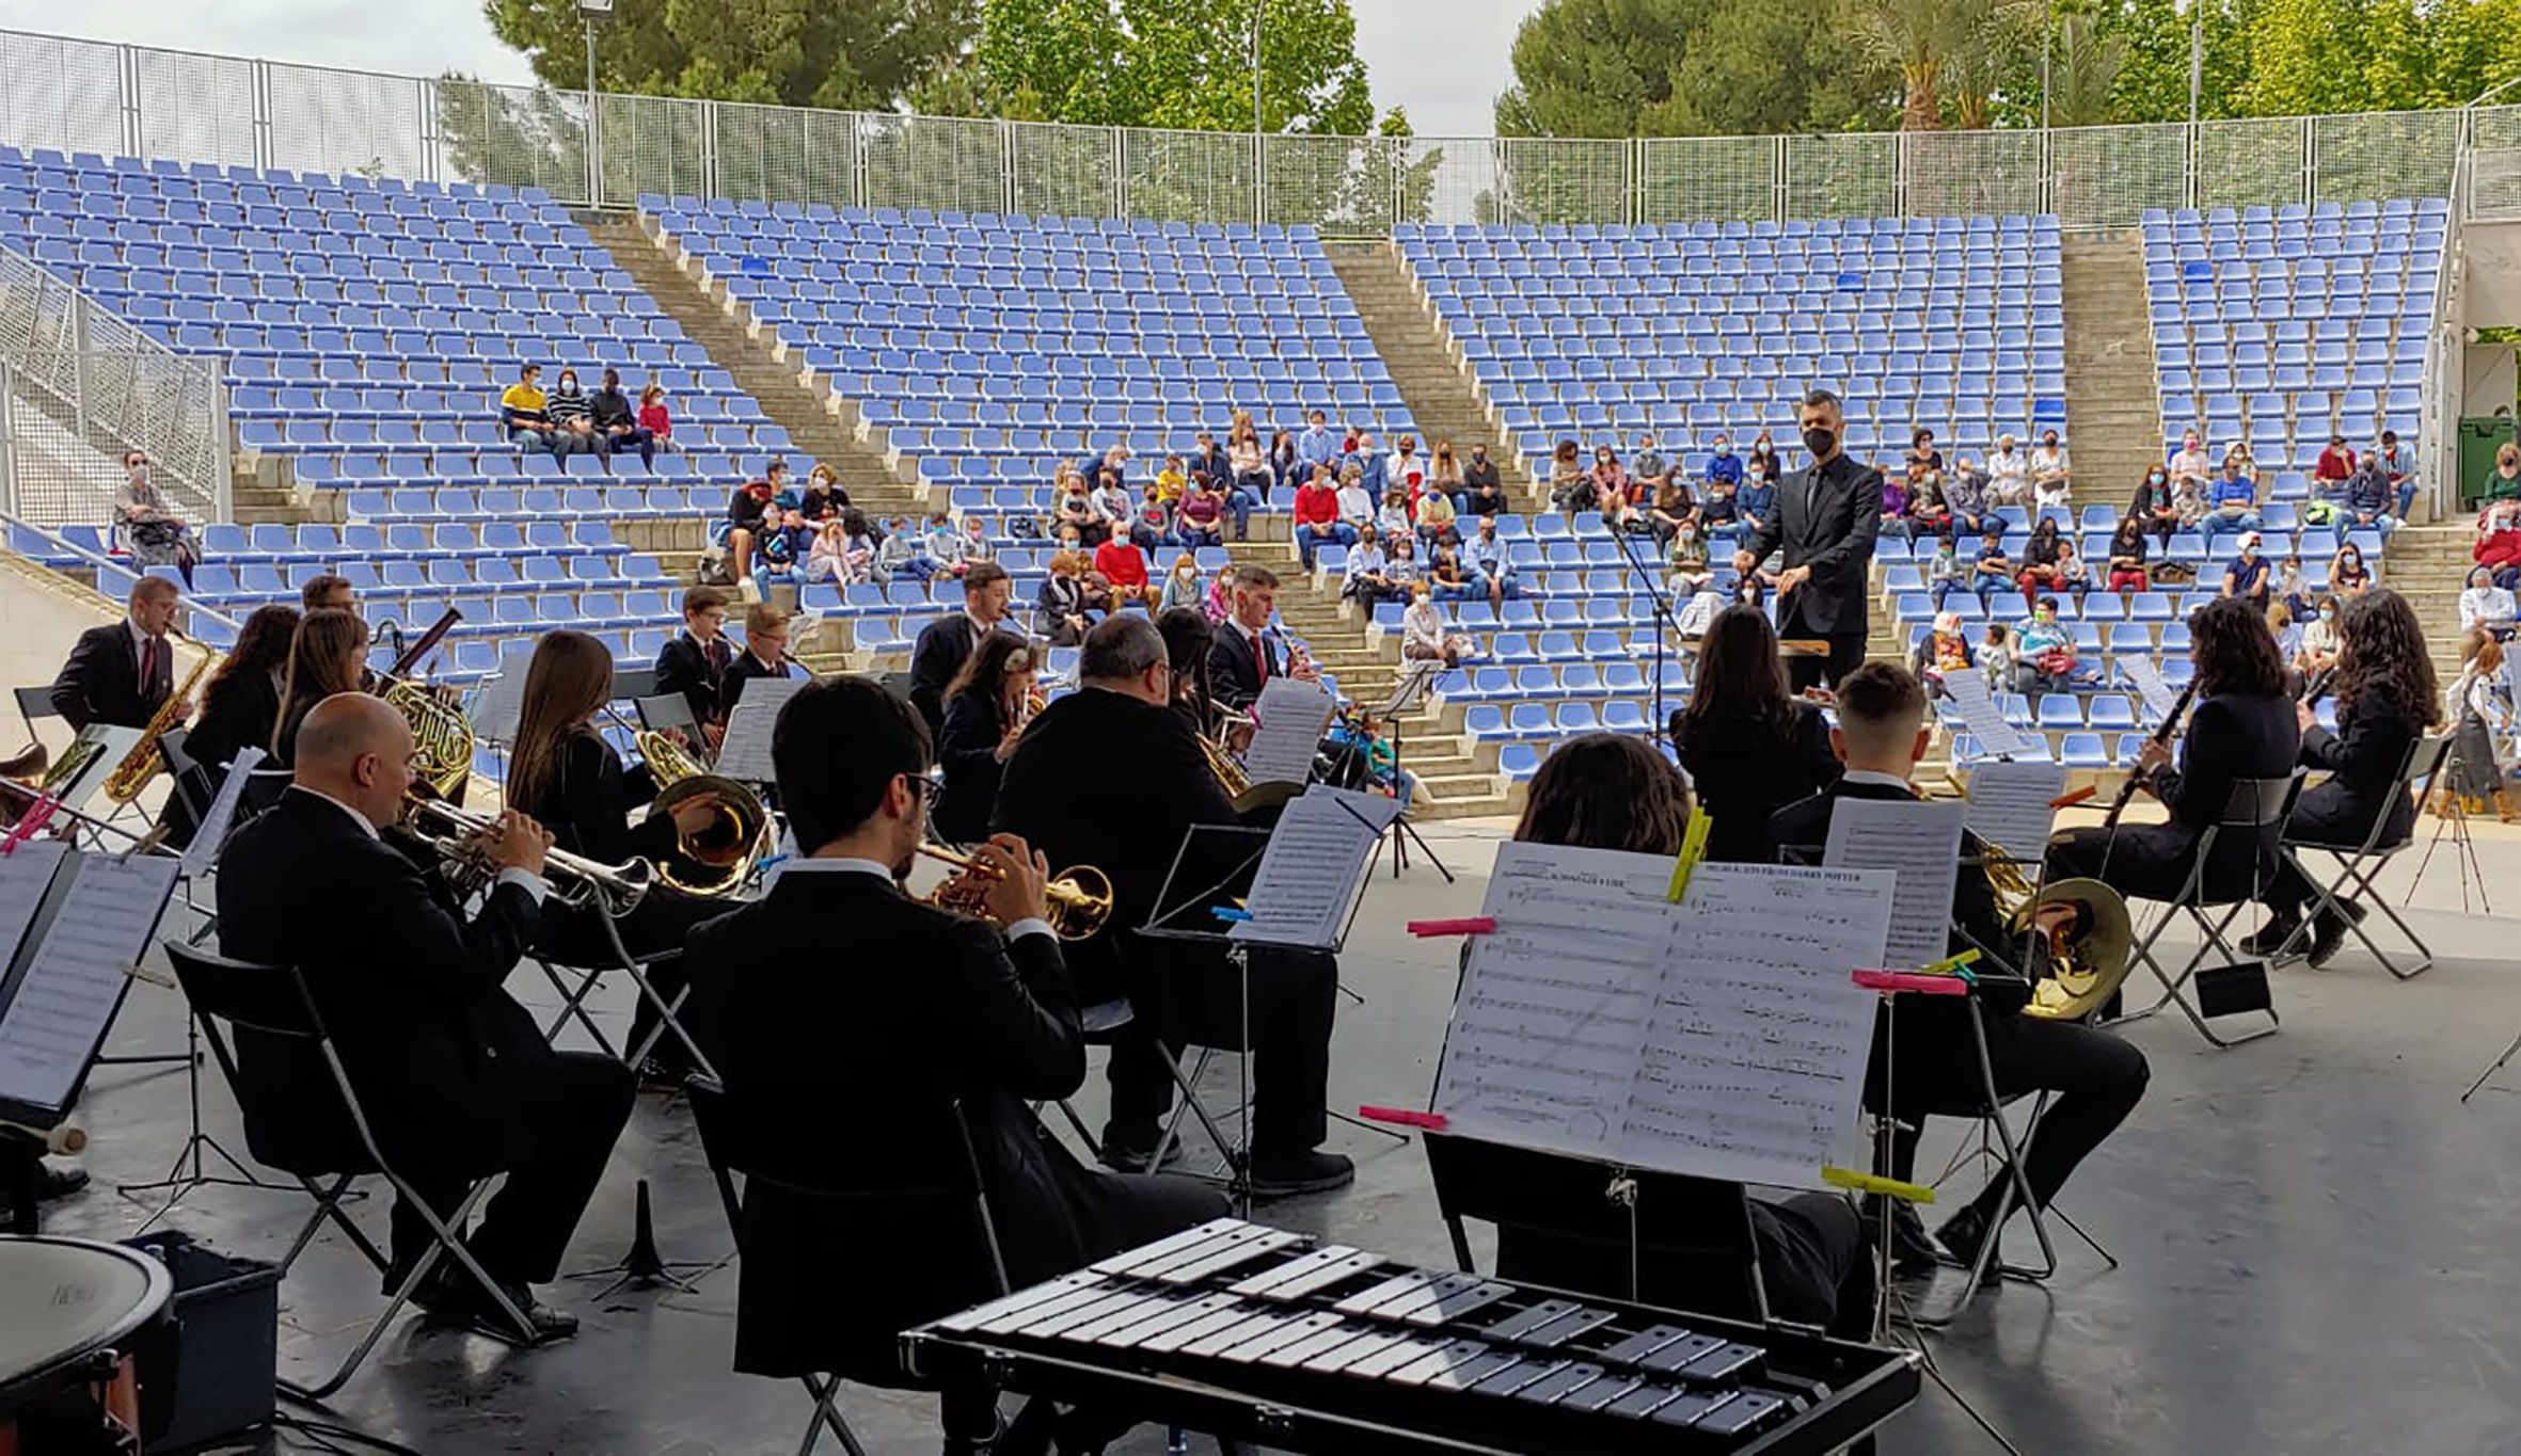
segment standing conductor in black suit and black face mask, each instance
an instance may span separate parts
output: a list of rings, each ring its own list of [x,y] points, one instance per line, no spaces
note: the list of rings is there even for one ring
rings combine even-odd
[[[1813,464],[1785,476],[1777,509],[1734,552],[1734,572],[1750,577],[1782,547],[1785,569],[1760,572],[1777,589],[1777,637],[1830,645],[1825,665],[1790,660],[1797,690],[1833,685],[1866,660],[1866,594],[1883,476],[1845,453],[1845,428],[1835,393],[1815,388],[1803,395],[1803,448]]]

